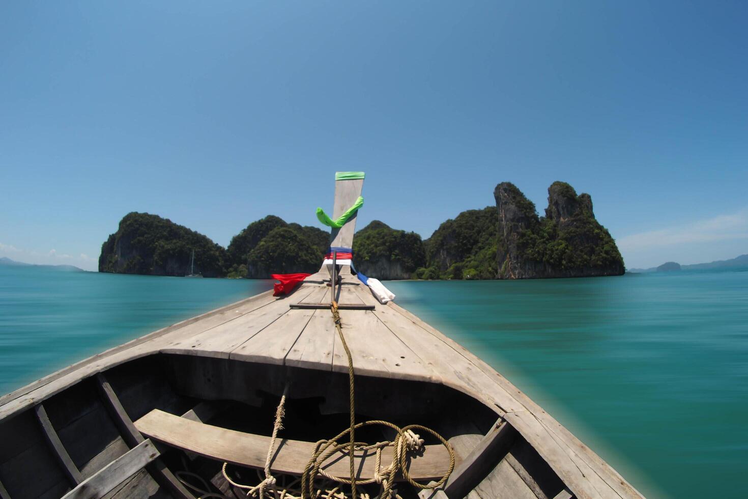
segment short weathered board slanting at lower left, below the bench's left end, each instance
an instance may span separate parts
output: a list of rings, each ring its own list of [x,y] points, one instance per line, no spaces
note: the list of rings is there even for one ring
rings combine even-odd
[[[62,499],[102,498],[114,487],[132,477],[160,455],[150,440],[144,440],[123,456],[114,459],[101,470],[68,492]]]

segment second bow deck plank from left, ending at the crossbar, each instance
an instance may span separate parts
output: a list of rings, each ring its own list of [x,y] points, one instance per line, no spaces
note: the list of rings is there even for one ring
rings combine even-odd
[[[230,358],[283,365],[286,355],[315,311],[291,310],[286,305],[283,315],[233,349]]]

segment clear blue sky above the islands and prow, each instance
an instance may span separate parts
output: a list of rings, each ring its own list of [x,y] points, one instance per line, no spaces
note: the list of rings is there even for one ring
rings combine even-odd
[[[748,4],[4,2],[0,256],[95,269],[130,211],[227,245],[317,224],[423,237],[509,180],[589,192],[628,267],[748,253]]]

